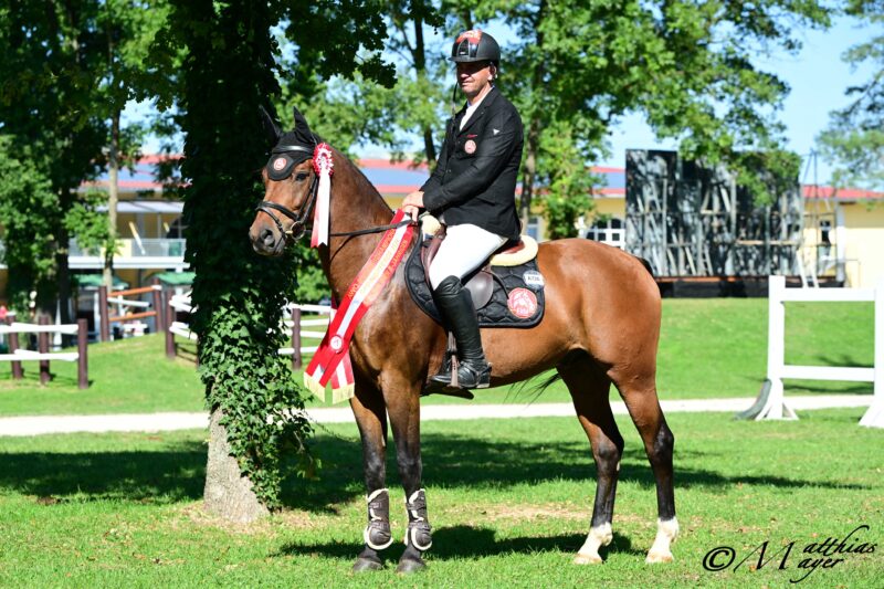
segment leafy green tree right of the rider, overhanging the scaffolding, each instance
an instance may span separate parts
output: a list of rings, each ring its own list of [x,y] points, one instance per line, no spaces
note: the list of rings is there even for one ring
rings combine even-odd
[[[739,167],[743,151],[777,149],[776,112],[788,87],[753,59],[794,52],[802,27],[829,23],[829,10],[815,0],[450,0],[443,9],[464,27],[504,21],[517,33],[503,48],[499,83],[525,123],[524,222],[538,187],[573,187],[550,192],[559,202],[547,210],[585,197],[565,178],[575,170],[562,158],[598,160],[609,128],[628,113],[642,113],[660,137],[678,139],[685,157],[708,165]]]

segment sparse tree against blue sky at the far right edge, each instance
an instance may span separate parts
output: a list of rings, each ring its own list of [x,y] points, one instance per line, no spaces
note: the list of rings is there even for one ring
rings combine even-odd
[[[832,113],[818,141],[825,159],[838,165],[832,178],[835,186],[884,190],[884,2],[850,0],[845,11],[871,24],[874,33],[843,59],[853,66],[872,64],[872,77],[848,88],[851,104]]]

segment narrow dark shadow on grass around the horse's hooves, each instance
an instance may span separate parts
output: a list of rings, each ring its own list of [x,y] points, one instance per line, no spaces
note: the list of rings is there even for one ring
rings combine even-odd
[[[487,527],[452,526],[433,530],[433,547],[428,553],[432,559],[448,560],[456,558],[484,558],[508,554],[530,555],[535,553],[577,554],[583,545],[582,534],[562,534],[558,536],[523,536],[518,538],[496,538],[496,532]],[[364,548],[358,543],[318,543],[287,544],[273,556],[322,555],[329,558],[356,559]],[[404,547],[394,543],[382,553],[389,561],[397,561]],[[602,558],[607,554],[622,553],[644,556],[642,550],[632,546],[632,541],[618,533],[610,546],[601,549]]]

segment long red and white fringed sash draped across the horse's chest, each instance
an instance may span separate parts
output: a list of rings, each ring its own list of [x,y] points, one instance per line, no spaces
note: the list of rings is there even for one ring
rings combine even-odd
[[[403,210],[396,211],[391,224],[399,223],[404,217]],[[320,399],[325,400],[325,387],[335,377],[338,379],[340,390],[335,393],[333,380],[333,401],[337,402],[352,397],[352,369],[349,367],[348,354],[350,339],[359,319],[368,312],[368,308],[392,278],[397,266],[402,262],[408,246],[411,244],[413,234],[412,225],[388,229],[347,288],[319,348],[304,371],[304,386]],[[344,358],[347,358],[347,362],[343,369],[338,370]],[[347,382],[348,372],[349,385]],[[347,391],[347,388],[350,390]]]

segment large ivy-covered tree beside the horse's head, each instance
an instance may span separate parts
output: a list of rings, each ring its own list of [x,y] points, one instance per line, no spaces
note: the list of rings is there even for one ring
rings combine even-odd
[[[281,450],[294,444],[306,461],[308,422],[301,387],[276,349],[282,307],[294,288],[297,250],[257,256],[248,240],[263,189],[255,170],[270,148],[259,107],[278,96],[291,72],[308,93],[313,81],[354,71],[389,81],[371,53],[383,40],[372,4],[309,4],[211,0],[173,3],[158,35],[157,67],[173,72],[177,120],[186,135],[182,175],[188,221],[187,260],[196,270],[192,326],[210,406],[207,505],[251,519],[278,505]],[[285,23],[296,69],[281,71],[271,28]],[[235,456],[231,459],[230,456]],[[243,475],[243,477],[240,476]]]

